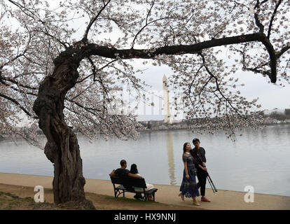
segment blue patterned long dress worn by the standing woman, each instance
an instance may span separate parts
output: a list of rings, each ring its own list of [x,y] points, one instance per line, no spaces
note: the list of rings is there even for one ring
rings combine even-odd
[[[179,191],[181,191],[181,194],[185,197],[198,197],[200,196],[200,193],[198,192],[198,186],[196,185],[195,175],[190,172],[190,169],[194,167],[193,156],[191,154],[184,153],[182,155],[182,160],[187,162],[189,179],[186,178],[186,172],[184,169],[184,177],[182,179]]]

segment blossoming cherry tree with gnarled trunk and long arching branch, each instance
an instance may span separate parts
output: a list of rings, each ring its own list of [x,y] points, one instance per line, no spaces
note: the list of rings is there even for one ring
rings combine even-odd
[[[250,125],[257,100],[236,89],[235,72],[289,83],[289,1],[1,0],[0,126],[37,144],[55,169],[55,203],[85,200],[73,130],[93,138],[137,139],[126,87],[141,99],[137,59],[167,65],[175,109],[209,130]],[[231,58],[226,55],[230,55]],[[123,106],[123,107],[122,107]],[[23,116],[29,130],[18,127]],[[197,119],[193,119],[197,118]],[[232,132],[229,132],[231,135]]]

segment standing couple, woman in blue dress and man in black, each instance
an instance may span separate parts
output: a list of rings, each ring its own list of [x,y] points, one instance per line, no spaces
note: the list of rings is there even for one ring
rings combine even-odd
[[[200,147],[200,140],[193,139],[193,145],[195,148],[191,149],[191,144],[186,142],[184,144],[184,153],[182,154],[182,160],[184,161],[184,177],[180,186],[181,193],[179,196],[182,200],[185,197],[192,197],[193,204],[200,205],[196,200],[196,197],[202,195],[202,202],[210,202],[205,197],[205,184],[207,182],[207,168],[205,167],[205,149]],[[195,175],[198,176],[198,183],[196,183]],[[200,193],[198,192],[200,188]]]

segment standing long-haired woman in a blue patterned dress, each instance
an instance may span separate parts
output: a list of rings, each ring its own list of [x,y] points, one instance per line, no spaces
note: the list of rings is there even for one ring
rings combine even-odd
[[[196,197],[200,196],[200,193],[198,192],[198,187],[196,185],[195,174],[191,174],[190,172],[191,168],[194,168],[193,156],[189,152],[190,150],[191,144],[186,142],[184,144],[184,153],[182,154],[182,160],[184,161],[184,177],[180,186],[179,191],[181,191],[181,193],[179,196],[182,200],[184,200],[184,196],[192,197],[193,204],[200,205],[196,200]]]

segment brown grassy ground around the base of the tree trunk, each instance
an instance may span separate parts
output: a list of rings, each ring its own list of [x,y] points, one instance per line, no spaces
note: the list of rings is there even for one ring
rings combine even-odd
[[[144,202],[127,197],[115,197],[85,193],[97,210],[188,210],[182,207],[159,202]],[[53,204],[53,190],[44,190],[44,202],[34,202],[34,188],[12,186],[0,183],[0,210],[83,210],[85,208],[71,204]]]

